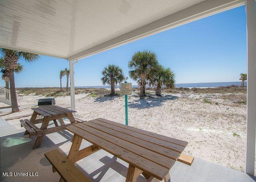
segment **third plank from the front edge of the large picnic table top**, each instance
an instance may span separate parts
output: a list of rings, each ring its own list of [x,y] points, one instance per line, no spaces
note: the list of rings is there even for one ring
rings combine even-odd
[[[95,123],[91,123],[91,122],[84,122],[82,124],[89,124],[90,127],[93,127],[95,129],[98,129],[100,131],[105,131],[105,127],[102,126],[102,125],[97,125]],[[158,153],[160,155],[164,155],[165,157],[168,157],[170,159],[174,159],[174,160],[177,160],[178,157],[180,156],[180,153],[176,152],[176,151],[173,151],[173,150],[170,150],[170,149],[166,149],[164,147],[161,147],[159,145],[155,145],[153,143],[150,143],[150,142],[147,142],[147,141],[144,141],[144,140],[141,140],[141,139],[138,139],[136,137],[133,137],[133,136],[130,136],[130,135],[126,135],[124,133],[121,133],[119,131],[115,131],[115,130],[111,130],[111,131],[108,131],[108,134],[110,135],[113,135],[117,138],[120,138],[124,141],[128,141],[130,143],[133,143],[135,145],[139,145],[140,147],[143,147],[145,149],[148,149],[150,151],[153,151],[155,153]]]

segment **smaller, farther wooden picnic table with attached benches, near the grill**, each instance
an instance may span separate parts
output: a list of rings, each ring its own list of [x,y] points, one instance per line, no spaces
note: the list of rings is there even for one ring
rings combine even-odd
[[[24,135],[29,135],[29,137],[36,137],[36,141],[34,143],[33,149],[36,149],[41,146],[44,135],[54,133],[57,131],[62,131],[65,127],[74,125],[76,123],[83,122],[82,120],[75,118],[73,116],[73,110],[62,108],[60,106],[50,105],[50,106],[40,106],[38,108],[32,108],[34,111],[30,120],[29,119],[21,119],[20,124],[21,127],[26,129]],[[36,119],[38,115],[41,115],[43,118]],[[63,118],[67,117],[70,123],[65,124]],[[58,125],[57,119],[60,123]],[[49,122],[54,122],[55,127],[47,128]],[[38,128],[35,124],[42,123],[41,127]]]

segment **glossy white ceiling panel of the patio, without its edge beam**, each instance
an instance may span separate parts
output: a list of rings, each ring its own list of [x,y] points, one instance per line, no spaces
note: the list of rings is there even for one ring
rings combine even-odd
[[[68,58],[204,0],[0,0],[0,47]]]

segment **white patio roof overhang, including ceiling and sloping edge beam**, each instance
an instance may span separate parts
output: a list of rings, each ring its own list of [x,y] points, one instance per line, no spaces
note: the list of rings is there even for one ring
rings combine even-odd
[[[83,59],[244,4],[244,0],[2,0],[0,47]]]

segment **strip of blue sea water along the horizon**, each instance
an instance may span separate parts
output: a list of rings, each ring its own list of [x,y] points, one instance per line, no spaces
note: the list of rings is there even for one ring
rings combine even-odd
[[[205,83],[178,83],[175,84],[176,88],[179,87],[218,87],[218,86],[231,86],[237,85],[240,86],[241,82],[205,82]],[[246,86],[246,82],[244,82]],[[132,85],[132,87],[138,87],[138,85]],[[109,85],[104,86],[76,86],[76,88],[110,88]],[[117,86],[119,88],[119,85]]]

